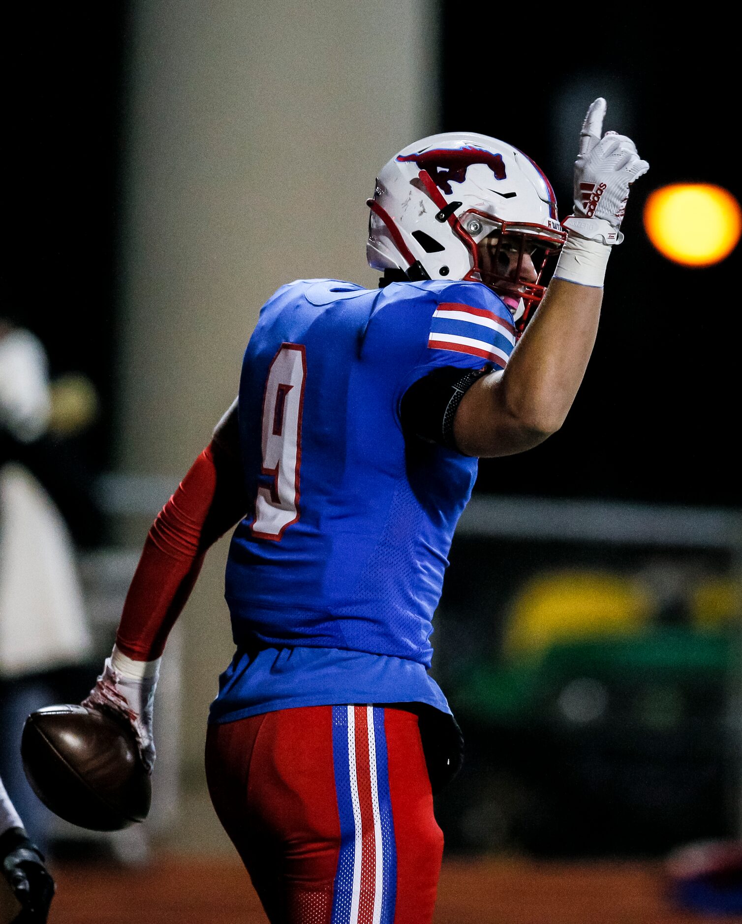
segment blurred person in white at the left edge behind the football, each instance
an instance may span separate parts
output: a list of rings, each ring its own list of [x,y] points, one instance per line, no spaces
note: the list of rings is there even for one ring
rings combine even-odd
[[[91,637],[63,517],[19,459],[50,419],[46,355],[29,331],[0,321],[0,765],[8,791],[41,843],[45,812],[20,768],[26,715],[50,701],[47,672],[87,660]]]

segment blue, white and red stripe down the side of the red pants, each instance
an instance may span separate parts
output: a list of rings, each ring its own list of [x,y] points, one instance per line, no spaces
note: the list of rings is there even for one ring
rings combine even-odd
[[[393,924],[396,850],[383,708],[333,707],[340,854],[332,924]]]

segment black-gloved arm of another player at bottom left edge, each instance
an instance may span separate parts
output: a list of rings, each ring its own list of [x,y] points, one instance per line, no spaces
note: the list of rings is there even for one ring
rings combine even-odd
[[[0,780],[0,870],[21,911],[15,924],[41,924],[55,894],[55,882],[44,865],[39,848],[26,833],[18,812]]]

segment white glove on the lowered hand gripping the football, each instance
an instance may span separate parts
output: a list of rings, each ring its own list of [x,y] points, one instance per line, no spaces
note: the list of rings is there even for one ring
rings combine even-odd
[[[150,773],[154,767],[152,708],[160,660],[132,661],[114,646],[111,657],[105,659],[103,674],[82,701],[87,709],[113,711],[128,721],[140,746],[141,760]]]

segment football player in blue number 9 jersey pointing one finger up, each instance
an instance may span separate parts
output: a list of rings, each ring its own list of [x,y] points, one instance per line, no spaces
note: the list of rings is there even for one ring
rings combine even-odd
[[[272,921],[432,920],[432,792],[461,760],[428,674],[432,614],[478,457],[558,430],[590,358],[648,169],[633,141],[602,134],[604,112],[596,100],[582,127],[564,227],[539,167],[503,141],[453,132],[393,157],[368,202],[379,289],[299,280],[268,300],[237,401],[147,537],[86,703],[128,716],[152,766],[165,639],[237,524],[237,650],[206,765]]]

